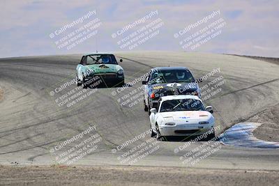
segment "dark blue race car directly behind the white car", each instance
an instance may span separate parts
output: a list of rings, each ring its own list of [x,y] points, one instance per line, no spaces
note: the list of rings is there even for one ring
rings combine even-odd
[[[200,82],[200,81],[199,81]],[[197,95],[201,91],[186,67],[152,68],[144,84],[144,111],[158,109],[158,100],[165,95]]]

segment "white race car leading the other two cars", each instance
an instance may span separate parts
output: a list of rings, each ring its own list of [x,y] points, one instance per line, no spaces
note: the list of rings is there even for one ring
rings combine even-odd
[[[204,107],[196,95],[167,95],[151,109],[151,137],[198,136],[215,137],[215,119],[211,106]]]

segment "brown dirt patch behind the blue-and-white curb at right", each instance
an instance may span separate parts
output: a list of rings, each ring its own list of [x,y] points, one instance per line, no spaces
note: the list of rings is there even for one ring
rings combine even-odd
[[[279,104],[264,109],[248,121],[263,123],[253,132],[257,139],[279,142]]]

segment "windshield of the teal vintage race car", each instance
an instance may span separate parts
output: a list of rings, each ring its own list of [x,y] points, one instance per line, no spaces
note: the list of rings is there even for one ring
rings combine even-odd
[[[117,65],[116,59],[112,54],[96,54],[87,56],[86,65],[93,64],[115,64]]]

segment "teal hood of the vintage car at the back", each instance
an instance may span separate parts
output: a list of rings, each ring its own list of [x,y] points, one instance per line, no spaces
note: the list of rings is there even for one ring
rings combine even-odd
[[[114,64],[94,64],[86,65],[90,70],[94,70],[94,73],[116,73],[118,70],[123,70],[120,65]]]

